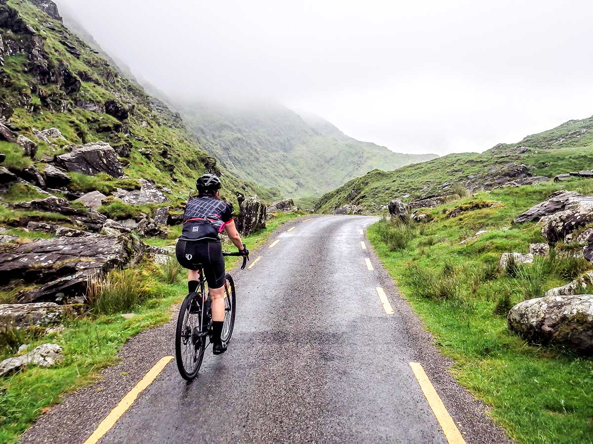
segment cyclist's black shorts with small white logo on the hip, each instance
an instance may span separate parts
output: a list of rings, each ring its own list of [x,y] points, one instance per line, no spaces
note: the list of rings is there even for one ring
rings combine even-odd
[[[220,242],[179,239],[175,255],[184,268],[198,270],[202,265],[208,288],[224,286],[226,274]]]

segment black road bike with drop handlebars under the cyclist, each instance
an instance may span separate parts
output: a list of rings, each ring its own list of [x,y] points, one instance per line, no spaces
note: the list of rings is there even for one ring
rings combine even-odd
[[[240,252],[227,253],[223,256],[242,256]],[[248,256],[243,256],[245,269]],[[177,328],[175,332],[175,357],[177,368],[183,379],[192,381],[200,371],[204,352],[212,343],[212,304],[210,295],[206,293],[206,279],[203,266],[199,265],[200,281],[196,291],[190,292],[179,310]],[[227,274],[224,283],[224,326],[221,339],[228,343],[235,326],[235,283],[232,276]]]

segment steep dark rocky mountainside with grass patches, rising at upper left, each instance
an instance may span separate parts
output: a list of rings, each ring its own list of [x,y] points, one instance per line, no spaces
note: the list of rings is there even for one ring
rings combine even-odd
[[[0,120],[31,140],[37,141],[34,130],[50,127],[65,137],[39,141],[33,159],[39,169],[68,151],[68,144],[106,141],[125,157],[126,175],[151,179],[177,197],[187,196],[200,173],[220,171],[180,115],[120,75],[62,24],[54,8],[47,1],[0,0]],[[11,158],[18,147],[7,144],[2,151]],[[232,201],[237,192],[273,198],[224,170],[222,175]]]

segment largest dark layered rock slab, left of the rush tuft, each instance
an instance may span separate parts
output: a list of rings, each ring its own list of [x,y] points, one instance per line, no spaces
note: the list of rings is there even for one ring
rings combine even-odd
[[[0,246],[0,286],[15,280],[38,285],[22,291],[18,303],[81,298],[90,276],[133,266],[144,251],[144,243],[131,234],[55,237]]]

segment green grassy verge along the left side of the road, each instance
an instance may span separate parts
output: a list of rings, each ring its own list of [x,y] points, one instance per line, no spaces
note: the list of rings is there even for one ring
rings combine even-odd
[[[251,248],[266,242],[273,230],[299,213],[280,213],[264,230],[245,238]],[[20,234],[14,230],[14,234]],[[159,239],[158,241],[161,241]],[[235,258],[236,260],[236,258]],[[229,263],[229,268],[232,263]],[[130,271],[113,272],[108,284],[94,289],[87,316],[68,320],[65,330],[47,336],[18,333],[14,342],[0,348],[0,359],[14,355],[21,343],[29,349],[42,343],[58,343],[65,359],[52,368],[30,367],[0,378],[0,442],[15,443],[21,433],[60,396],[91,384],[98,372],[117,362],[117,352],[131,337],[166,323],[171,305],[180,303],[187,292],[184,270],[175,263],[157,267],[145,263]],[[131,319],[121,316],[136,314]]]

